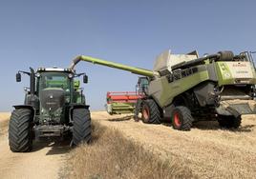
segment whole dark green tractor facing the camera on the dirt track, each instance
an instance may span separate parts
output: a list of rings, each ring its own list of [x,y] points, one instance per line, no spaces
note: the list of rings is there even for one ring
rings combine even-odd
[[[30,76],[30,89],[25,89],[24,105],[13,106],[9,124],[9,145],[13,152],[32,150],[33,139],[64,138],[72,135],[71,145],[91,140],[91,116],[85,104],[82,89],[71,69],[56,67],[37,71],[19,70],[16,81],[21,81],[21,73]]]

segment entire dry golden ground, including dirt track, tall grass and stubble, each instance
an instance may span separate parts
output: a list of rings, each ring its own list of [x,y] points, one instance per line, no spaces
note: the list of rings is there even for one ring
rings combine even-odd
[[[30,153],[8,147],[9,113],[0,114],[0,178],[255,178],[256,116],[237,130],[200,122],[190,131],[145,125],[127,115],[92,112],[93,141],[34,142]],[[26,167],[25,167],[26,166]]]

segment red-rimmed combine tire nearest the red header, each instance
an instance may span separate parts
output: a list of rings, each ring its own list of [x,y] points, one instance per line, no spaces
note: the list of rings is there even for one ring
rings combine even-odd
[[[142,101],[142,122],[147,124],[160,124],[160,109],[153,99]]]

